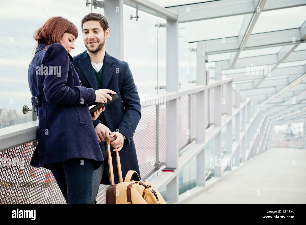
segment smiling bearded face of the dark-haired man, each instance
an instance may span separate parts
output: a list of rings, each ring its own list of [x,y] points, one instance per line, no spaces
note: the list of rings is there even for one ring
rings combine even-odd
[[[87,21],[83,24],[82,37],[88,51],[92,53],[99,52],[105,45],[106,36],[108,37],[109,35],[107,33],[104,35],[99,21]]]

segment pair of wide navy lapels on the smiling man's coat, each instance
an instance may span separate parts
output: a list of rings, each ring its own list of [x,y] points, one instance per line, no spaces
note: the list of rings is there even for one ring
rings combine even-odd
[[[106,89],[111,77],[113,76],[115,66],[112,64],[114,62],[115,61],[110,57],[110,55],[105,52],[102,67],[101,89]],[[86,50],[82,54],[80,54],[78,63],[91,88],[93,88],[94,90],[98,90],[99,88],[95,79],[95,73],[93,71],[90,58]]]

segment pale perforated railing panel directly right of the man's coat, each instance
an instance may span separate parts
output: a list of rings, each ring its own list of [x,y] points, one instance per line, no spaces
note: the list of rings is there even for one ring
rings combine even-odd
[[[155,168],[156,161],[156,106],[141,109],[141,119],[135,130],[136,147],[140,176],[145,177]]]

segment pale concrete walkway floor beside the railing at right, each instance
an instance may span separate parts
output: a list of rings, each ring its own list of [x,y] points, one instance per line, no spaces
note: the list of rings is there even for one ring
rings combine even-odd
[[[306,151],[271,148],[186,204],[305,203]]]

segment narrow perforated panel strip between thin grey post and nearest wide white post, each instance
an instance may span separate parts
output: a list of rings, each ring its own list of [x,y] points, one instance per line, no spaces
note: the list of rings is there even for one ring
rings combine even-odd
[[[166,162],[166,104],[159,106],[159,161]]]

